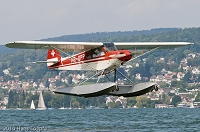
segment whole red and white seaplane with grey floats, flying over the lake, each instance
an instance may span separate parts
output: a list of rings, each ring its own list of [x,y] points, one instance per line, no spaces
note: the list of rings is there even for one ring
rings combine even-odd
[[[129,78],[117,70],[118,67],[147,54],[155,49],[176,48],[191,45],[189,42],[124,42],[124,43],[100,43],[100,42],[47,42],[47,41],[15,41],[7,43],[9,48],[23,49],[47,49],[47,60],[35,63],[47,63],[49,69],[55,70],[87,70],[97,71],[100,76],[114,71],[114,82],[81,85],[87,80],[80,82],[79,86],[56,89],[55,93],[77,95],[84,97],[100,96],[103,94],[116,96],[138,96],[157,90],[153,82],[134,84]],[[60,52],[67,55],[62,57]],[[68,52],[77,53],[69,55]],[[118,85],[116,72],[131,82],[131,85]],[[89,79],[90,79],[89,78]],[[97,82],[99,79],[97,80]]]

